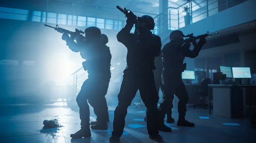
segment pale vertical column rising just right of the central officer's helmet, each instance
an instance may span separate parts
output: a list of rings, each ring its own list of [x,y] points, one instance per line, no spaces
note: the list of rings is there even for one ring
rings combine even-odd
[[[163,31],[168,30],[168,0],[159,0],[159,34],[163,33]],[[163,13],[162,13],[163,12]]]

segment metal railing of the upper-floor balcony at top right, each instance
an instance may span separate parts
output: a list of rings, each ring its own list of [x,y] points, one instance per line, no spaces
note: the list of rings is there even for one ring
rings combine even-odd
[[[198,22],[245,1],[247,0],[226,0],[223,3],[220,3],[219,0],[202,0],[201,2],[192,0],[178,8],[169,7],[154,17],[154,20],[156,21],[155,33],[161,34],[166,30],[182,28],[187,24]],[[186,11],[184,11],[184,6],[189,6],[190,9],[189,23],[185,22],[187,14]]]

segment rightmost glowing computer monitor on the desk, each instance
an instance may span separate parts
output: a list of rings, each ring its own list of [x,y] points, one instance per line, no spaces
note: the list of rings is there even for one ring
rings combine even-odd
[[[250,79],[250,67],[232,67],[233,77],[235,79]]]

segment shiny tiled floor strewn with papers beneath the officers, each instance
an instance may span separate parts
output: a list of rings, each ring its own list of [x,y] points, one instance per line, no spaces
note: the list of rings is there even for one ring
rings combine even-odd
[[[79,113],[63,105],[0,105],[0,143],[109,143],[115,107],[109,107],[111,121],[107,131],[92,131],[90,138],[73,140],[70,134],[80,129]],[[155,143],[148,138],[146,123],[142,120],[145,112],[141,111],[145,111],[145,107],[129,107],[121,143]],[[43,121],[55,116],[64,127],[41,130]],[[174,109],[173,117],[177,120],[177,109]],[[179,127],[176,122],[167,124],[173,131],[160,132],[164,143],[256,143],[256,129],[250,127],[249,120],[209,116],[207,109],[192,108],[188,108],[186,118],[193,121],[195,127]],[[91,112],[91,121],[94,120]],[[225,126],[223,123],[238,123],[240,126]]]

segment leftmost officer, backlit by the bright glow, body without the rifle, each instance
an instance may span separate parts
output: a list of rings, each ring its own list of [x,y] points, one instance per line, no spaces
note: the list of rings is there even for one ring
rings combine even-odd
[[[79,106],[81,129],[71,134],[72,138],[90,137],[90,109],[88,103],[93,107],[97,121],[92,122],[91,129],[108,129],[108,106],[105,95],[111,78],[111,53],[105,44],[108,39],[103,37],[99,28],[86,28],[85,37],[76,36],[76,42],[67,34],[62,39],[67,42],[70,50],[80,52],[83,59],[84,70],[88,72],[88,79],[84,81],[81,91],[77,95],[76,102]],[[87,103],[88,100],[88,103]]]

